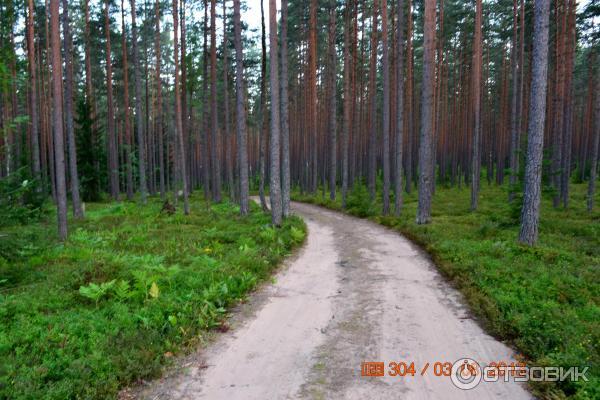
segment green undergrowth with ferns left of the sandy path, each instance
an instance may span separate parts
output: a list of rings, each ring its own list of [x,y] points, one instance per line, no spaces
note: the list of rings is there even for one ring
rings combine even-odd
[[[229,306],[303,242],[252,206],[160,214],[161,203],[88,204],[65,244],[53,217],[2,228],[0,399],[110,399],[222,329]],[[179,210],[178,210],[179,211]]]

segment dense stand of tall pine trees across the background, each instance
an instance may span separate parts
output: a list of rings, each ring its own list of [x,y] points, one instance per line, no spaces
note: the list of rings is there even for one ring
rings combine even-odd
[[[82,218],[104,192],[188,213],[202,189],[245,214],[268,188],[279,225],[291,187],[345,204],[364,182],[400,214],[416,185],[428,223],[436,185],[469,185],[476,211],[485,179],[523,203],[529,244],[542,191],[566,208],[587,179],[592,209],[595,2],[263,3],[254,32],[240,0],[3,1],[0,175],[39,183],[62,237],[67,196]]]

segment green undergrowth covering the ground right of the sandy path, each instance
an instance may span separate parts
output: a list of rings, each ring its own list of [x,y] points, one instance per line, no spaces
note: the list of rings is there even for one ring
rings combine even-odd
[[[432,223],[416,225],[416,193],[405,197],[402,215],[381,216],[381,199],[366,189],[349,195],[346,212],[396,229],[421,245],[465,295],[496,337],[512,343],[539,366],[588,366],[589,382],[532,385],[543,398],[600,398],[600,212],[585,210],[586,186],[572,185],[567,210],[543,199],[535,247],[516,242],[518,206],[505,187],[483,184],[477,212],[468,188],[438,187]],[[327,195],[328,196],[328,195]],[[331,201],[298,192],[293,198],[342,210]],[[596,204],[600,204],[597,200]],[[392,202],[393,205],[393,202]]]

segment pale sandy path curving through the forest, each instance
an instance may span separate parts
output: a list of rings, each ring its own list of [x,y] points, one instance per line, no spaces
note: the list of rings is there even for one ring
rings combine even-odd
[[[300,253],[234,311],[232,329],[142,388],[148,399],[529,399],[514,382],[456,388],[435,362],[510,361],[426,256],[374,223],[293,204]],[[406,377],[362,377],[363,361],[414,362]],[[430,368],[424,375],[420,370]]]

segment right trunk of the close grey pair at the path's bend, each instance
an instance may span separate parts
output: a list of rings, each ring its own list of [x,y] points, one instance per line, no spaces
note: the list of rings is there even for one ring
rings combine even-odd
[[[281,0],[281,208],[290,213],[290,123],[288,96],[287,24],[288,0]]]

